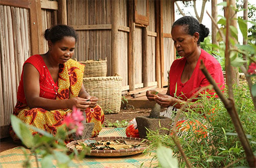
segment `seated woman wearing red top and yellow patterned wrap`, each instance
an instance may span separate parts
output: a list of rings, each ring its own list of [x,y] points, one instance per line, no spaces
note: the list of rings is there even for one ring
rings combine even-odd
[[[54,136],[64,127],[65,116],[75,106],[86,113],[87,122],[95,123],[92,137],[97,136],[104,113],[96,105],[98,98],[90,96],[83,87],[84,65],[71,59],[76,31],[67,25],[56,25],[46,29],[44,36],[49,50],[24,62],[13,114]],[[12,129],[10,135],[14,141],[19,141]]]

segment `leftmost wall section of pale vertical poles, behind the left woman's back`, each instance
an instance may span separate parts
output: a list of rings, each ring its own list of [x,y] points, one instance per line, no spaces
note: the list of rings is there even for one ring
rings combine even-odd
[[[0,5],[1,80],[0,121],[1,138],[9,136],[10,115],[17,102],[22,65],[30,56],[29,11]]]

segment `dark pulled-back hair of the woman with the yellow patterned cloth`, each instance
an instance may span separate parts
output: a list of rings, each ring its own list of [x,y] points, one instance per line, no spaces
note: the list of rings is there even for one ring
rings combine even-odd
[[[50,29],[46,29],[44,32],[44,38],[46,40],[51,40],[54,44],[56,41],[62,40],[64,37],[74,37],[75,41],[78,40],[77,32],[68,25],[56,25]]]

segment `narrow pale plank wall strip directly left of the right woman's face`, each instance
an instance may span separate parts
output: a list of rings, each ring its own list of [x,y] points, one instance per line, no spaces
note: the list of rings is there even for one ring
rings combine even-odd
[[[174,42],[170,35],[172,31],[172,25],[174,23],[174,11],[170,9],[174,9],[172,1],[163,1],[163,32],[166,34],[163,38],[163,50],[164,50],[164,69],[163,69],[163,79],[165,81],[165,85],[167,85],[167,71],[170,69],[170,65],[172,65],[175,59],[175,50],[174,50]]]

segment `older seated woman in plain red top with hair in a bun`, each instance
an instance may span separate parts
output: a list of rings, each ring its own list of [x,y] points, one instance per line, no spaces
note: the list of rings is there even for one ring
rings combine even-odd
[[[173,118],[182,104],[192,98],[201,88],[210,85],[210,82],[199,68],[200,60],[203,60],[217,85],[222,90],[224,89],[224,77],[219,62],[200,48],[200,42],[203,42],[208,34],[209,28],[200,24],[191,16],[184,16],[174,22],[172,38],[175,48],[182,58],[176,59],[170,67],[169,87],[166,95],[155,94],[156,91],[154,90],[146,93],[148,100],[155,101],[162,107],[168,108],[161,115]],[[214,91],[208,90],[208,93],[214,95]],[[184,122],[184,120],[181,122]],[[134,123],[128,126],[127,136],[138,136],[133,126],[136,127]]]

